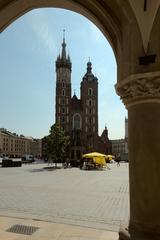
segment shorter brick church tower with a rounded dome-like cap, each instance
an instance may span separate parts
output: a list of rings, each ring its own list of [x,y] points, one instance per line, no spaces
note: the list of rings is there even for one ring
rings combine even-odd
[[[98,79],[92,73],[92,63],[87,63],[87,72],[81,82],[83,108],[83,136],[87,151],[95,149],[98,137]]]

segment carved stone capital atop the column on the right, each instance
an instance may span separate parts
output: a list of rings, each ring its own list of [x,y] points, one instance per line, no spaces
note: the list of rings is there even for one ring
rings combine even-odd
[[[160,103],[160,71],[133,74],[115,84],[126,108],[147,103]]]

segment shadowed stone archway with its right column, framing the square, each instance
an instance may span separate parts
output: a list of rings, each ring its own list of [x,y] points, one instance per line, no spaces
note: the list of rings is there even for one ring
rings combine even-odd
[[[118,65],[120,84],[117,85],[117,93],[129,106],[131,211],[129,233],[120,232],[119,239],[122,240],[160,239],[160,10],[158,9],[160,3],[158,0],[156,2],[157,5],[154,4],[155,1],[148,1],[148,9],[145,12],[143,1],[139,0],[0,1],[1,32],[15,19],[32,9],[59,7],[87,17],[110,42]],[[154,18],[150,13],[154,13]],[[144,32],[148,22],[149,25],[151,24],[150,29]],[[155,63],[139,64],[139,57],[148,57],[146,54],[156,54]]]

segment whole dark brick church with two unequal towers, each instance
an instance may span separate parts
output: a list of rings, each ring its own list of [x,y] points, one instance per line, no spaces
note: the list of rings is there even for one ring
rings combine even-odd
[[[86,152],[111,153],[108,130],[105,127],[98,136],[98,79],[92,73],[92,63],[87,63],[87,71],[81,81],[80,99],[71,95],[70,56],[66,54],[63,37],[62,51],[56,60],[56,123],[71,140],[70,158],[79,160]]]

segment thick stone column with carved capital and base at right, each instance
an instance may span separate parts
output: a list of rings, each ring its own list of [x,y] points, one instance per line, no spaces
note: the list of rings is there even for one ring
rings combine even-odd
[[[119,240],[160,239],[160,72],[117,83],[128,109],[130,222]]]

